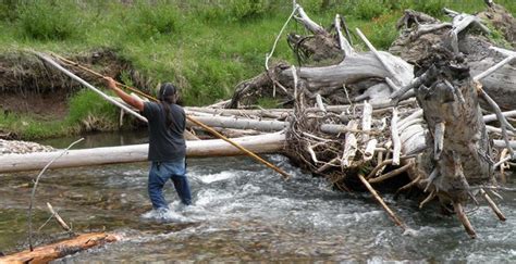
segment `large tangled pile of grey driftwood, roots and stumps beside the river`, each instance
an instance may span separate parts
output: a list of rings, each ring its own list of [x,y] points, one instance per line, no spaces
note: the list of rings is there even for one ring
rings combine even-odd
[[[490,4],[479,15],[444,10],[451,23],[407,10],[390,50],[396,55],[377,51],[358,28],[370,51],[356,51],[339,15],[329,32],[295,5],[293,17],[311,35],[291,34],[287,41],[299,64],[318,66],[270,66],[269,54],[268,71],[241,83],[231,100],[189,114],[230,135],[286,128],[286,154],[343,190],[360,181],[372,190],[369,184],[407,175],[398,192],[419,188],[420,206],[439,200],[475,238],[464,206],[483,197],[505,219],[491,196],[499,196],[497,179],[505,180],[503,171],[516,158],[516,53],[496,48],[480,17],[503,17],[505,29],[516,22]],[[246,110],[261,96],[292,109]]]

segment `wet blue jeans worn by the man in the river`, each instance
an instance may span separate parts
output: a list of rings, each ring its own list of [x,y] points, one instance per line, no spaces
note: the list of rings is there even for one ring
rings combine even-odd
[[[192,204],[188,179],[186,178],[185,159],[172,162],[152,162],[149,171],[149,198],[153,209],[168,209],[169,205],[163,197],[163,186],[171,179],[175,191],[183,204]]]

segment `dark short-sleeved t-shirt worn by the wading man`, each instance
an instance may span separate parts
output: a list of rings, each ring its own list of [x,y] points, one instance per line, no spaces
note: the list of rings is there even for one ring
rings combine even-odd
[[[168,162],[185,156],[185,111],[177,104],[169,105],[172,124],[167,127],[163,105],[156,102],[144,103],[142,115],[149,121],[149,161]]]

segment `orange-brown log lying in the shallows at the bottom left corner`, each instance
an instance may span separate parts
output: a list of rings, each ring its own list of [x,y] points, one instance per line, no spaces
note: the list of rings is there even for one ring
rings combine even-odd
[[[1,256],[0,263],[48,263],[83,250],[114,242],[119,239],[118,236],[107,232],[83,234],[69,240],[36,248],[34,251],[26,250],[12,255]]]

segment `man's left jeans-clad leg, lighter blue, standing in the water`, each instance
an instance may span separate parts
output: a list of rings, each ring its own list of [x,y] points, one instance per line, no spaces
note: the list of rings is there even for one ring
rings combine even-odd
[[[169,208],[163,197],[163,186],[169,179],[169,175],[162,163],[152,162],[150,164],[148,192],[155,210]]]

